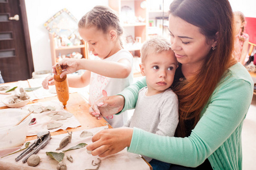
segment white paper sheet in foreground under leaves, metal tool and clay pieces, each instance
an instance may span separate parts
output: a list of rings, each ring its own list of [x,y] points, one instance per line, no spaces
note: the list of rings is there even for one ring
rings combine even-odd
[[[86,131],[91,131],[93,134],[96,134],[98,131],[101,131],[105,128],[108,128],[108,126],[102,126],[99,128],[93,128],[88,129]],[[72,133],[72,141],[67,146],[65,146],[62,150],[56,151],[56,148],[59,147],[59,143],[61,139],[66,137],[68,134],[61,134],[61,135],[54,135],[52,136],[51,140],[49,141],[48,145],[42,148],[38,154],[41,162],[39,165],[36,166],[36,168],[42,168],[42,169],[56,169],[58,162],[54,159],[51,159],[49,156],[46,155],[46,152],[61,152],[63,150],[67,150],[68,148],[71,148],[73,146],[78,145],[79,143],[92,143],[92,137],[86,137],[86,138],[80,138],[81,131],[74,131]],[[31,141],[32,143],[32,141]],[[24,146],[23,146],[24,147]],[[22,148],[23,148],[22,147]],[[8,165],[11,167],[17,166],[20,167],[20,169],[28,168],[27,163],[22,163],[22,160],[19,160],[19,162],[15,162],[15,158],[20,154],[20,152],[6,156],[5,158],[0,159],[0,162],[2,163],[8,163]],[[67,155],[72,155],[73,157],[73,163],[69,162],[67,160]],[[67,169],[95,169],[96,167],[93,167],[92,160],[94,160],[94,163],[97,163],[99,158],[98,156],[92,156],[86,152],[86,147],[80,148],[77,150],[71,150],[65,152],[65,156],[63,159],[63,162],[67,164]],[[101,165],[99,169],[123,169],[123,170],[130,170],[130,169],[150,169],[150,167],[147,165],[146,162],[141,158],[141,156],[133,153],[127,152],[126,148],[122,150],[121,152],[118,152],[114,155],[106,156],[105,158],[99,158],[101,159]]]

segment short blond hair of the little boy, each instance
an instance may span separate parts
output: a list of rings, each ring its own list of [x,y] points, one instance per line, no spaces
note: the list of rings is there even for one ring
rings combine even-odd
[[[141,48],[141,62],[144,64],[150,54],[158,54],[168,50],[171,50],[171,43],[163,37],[147,40]]]

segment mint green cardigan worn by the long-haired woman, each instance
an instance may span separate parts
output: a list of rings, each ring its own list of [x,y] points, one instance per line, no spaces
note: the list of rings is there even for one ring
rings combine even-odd
[[[119,95],[126,109],[135,107],[142,79]],[[127,151],[163,162],[197,167],[209,159],[213,169],[242,169],[241,131],[253,97],[254,83],[245,67],[236,63],[218,83],[189,137],[163,137],[134,128]]]

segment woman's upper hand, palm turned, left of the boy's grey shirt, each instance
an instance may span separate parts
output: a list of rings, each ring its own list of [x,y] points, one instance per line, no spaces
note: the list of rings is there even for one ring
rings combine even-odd
[[[122,111],[125,105],[125,98],[121,95],[106,96],[99,99],[96,104],[89,108],[89,113],[99,119],[101,116],[110,117]]]

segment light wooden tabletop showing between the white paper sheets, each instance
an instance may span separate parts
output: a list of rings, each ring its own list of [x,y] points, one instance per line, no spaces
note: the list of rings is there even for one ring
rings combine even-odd
[[[33,100],[33,101],[30,101],[28,104],[51,101],[51,100],[58,100],[57,96],[47,97],[39,100]],[[98,120],[96,117],[93,117],[89,114],[89,111],[88,111],[89,107],[90,105],[87,103],[87,101],[78,93],[69,94],[69,100],[67,105],[64,107],[64,109],[72,113],[77,118],[77,120],[79,120],[81,126],[77,128],[68,128],[66,130],[58,130],[58,131],[52,132],[51,135],[59,135],[59,134],[67,133],[67,130],[79,131],[84,129],[97,128],[100,126],[106,126],[108,122],[106,122],[104,118],[101,118],[101,120]],[[7,109],[7,108],[9,107],[0,107],[0,109]],[[109,125],[109,128],[112,128],[112,127]],[[36,136],[30,136],[26,138],[26,141],[31,141],[36,138],[37,138]],[[146,160],[144,161],[146,162]],[[150,169],[152,169],[150,164],[148,164],[148,166],[150,167]],[[5,167],[5,165],[2,165],[2,163],[0,162],[0,167]],[[13,167],[13,168],[16,169],[18,167]],[[34,168],[28,167],[28,168],[36,169],[35,167]]]

